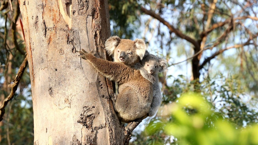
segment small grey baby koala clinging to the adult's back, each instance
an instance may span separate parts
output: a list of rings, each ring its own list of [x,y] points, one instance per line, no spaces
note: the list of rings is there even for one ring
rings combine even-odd
[[[162,100],[158,72],[163,72],[167,68],[166,59],[157,57],[156,55],[150,54],[146,51],[141,61],[141,65],[136,64],[134,67],[139,69],[141,75],[152,83],[153,100],[148,116],[154,116],[159,109]]]

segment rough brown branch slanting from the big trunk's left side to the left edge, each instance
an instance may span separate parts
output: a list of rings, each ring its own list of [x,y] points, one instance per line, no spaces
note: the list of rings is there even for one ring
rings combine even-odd
[[[11,92],[10,94],[4,99],[1,107],[0,107],[0,121],[3,120],[3,116],[4,116],[4,113],[5,113],[5,109],[4,107],[7,105],[7,103],[13,99],[14,97],[14,94],[15,94],[15,91],[17,90],[17,87],[20,83],[20,80],[22,78],[22,75],[25,71],[25,68],[27,67],[28,65],[28,59],[27,59],[27,55],[25,54],[25,58],[22,62],[22,64],[20,65],[20,68],[19,68],[19,71],[18,73],[16,74],[16,77],[15,79],[13,80],[13,83],[9,85],[9,87],[11,87]]]

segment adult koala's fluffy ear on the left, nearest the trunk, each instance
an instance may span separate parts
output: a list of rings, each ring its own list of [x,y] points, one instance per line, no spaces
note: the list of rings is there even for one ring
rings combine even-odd
[[[105,50],[107,51],[108,55],[112,55],[116,46],[120,43],[119,36],[112,36],[107,39],[105,42]]]

